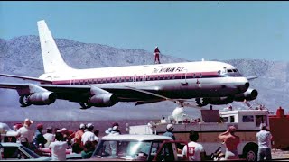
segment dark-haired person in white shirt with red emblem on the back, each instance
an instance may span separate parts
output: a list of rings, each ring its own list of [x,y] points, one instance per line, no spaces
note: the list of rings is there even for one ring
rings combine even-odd
[[[199,133],[197,131],[190,132],[191,142],[182,148],[182,156],[189,161],[203,161],[205,160],[205,150],[200,143],[197,143]],[[189,151],[188,151],[189,150]]]

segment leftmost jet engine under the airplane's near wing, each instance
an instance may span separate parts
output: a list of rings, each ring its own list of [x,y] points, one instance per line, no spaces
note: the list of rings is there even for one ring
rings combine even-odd
[[[48,105],[54,103],[56,100],[56,94],[52,92],[34,93],[28,96],[27,101],[35,105]]]

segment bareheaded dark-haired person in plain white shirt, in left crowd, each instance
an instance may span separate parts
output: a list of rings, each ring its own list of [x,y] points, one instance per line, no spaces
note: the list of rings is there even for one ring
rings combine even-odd
[[[52,161],[66,161],[66,149],[69,148],[66,141],[62,141],[63,135],[61,132],[55,133],[55,141],[51,142],[49,148],[51,149]]]

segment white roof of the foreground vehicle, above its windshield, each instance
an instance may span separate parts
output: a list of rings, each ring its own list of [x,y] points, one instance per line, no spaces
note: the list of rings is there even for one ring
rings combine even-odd
[[[152,134],[121,134],[121,135],[107,135],[101,139],[126,139],[126,140],[173,140],[171,137],[152,135]]]

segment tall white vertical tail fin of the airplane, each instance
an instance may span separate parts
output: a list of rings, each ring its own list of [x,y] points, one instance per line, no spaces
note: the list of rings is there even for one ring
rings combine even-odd
[[[73,68],[68,66],[61,57],[61,52],[57,48],[57,45],[51,35],[51,31],[49,30],[45,21],[38,21],[37,26],[42,47],[44,73],[53,73],[60,70],[72,70]]]

